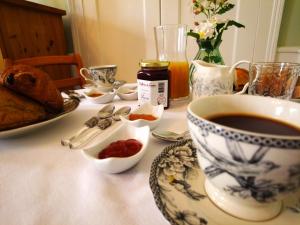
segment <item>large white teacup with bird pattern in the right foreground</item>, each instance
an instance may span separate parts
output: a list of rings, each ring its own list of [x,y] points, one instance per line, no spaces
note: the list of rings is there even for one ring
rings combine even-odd
[[[188,106],[189,131],[210,199],[242,219],[271,219],[280,213],[281,200],[299,190],[300,135],[259,133],[211,121],[228,114],[269,118],[300,133],[300,104],[254,95],[214,95]]]

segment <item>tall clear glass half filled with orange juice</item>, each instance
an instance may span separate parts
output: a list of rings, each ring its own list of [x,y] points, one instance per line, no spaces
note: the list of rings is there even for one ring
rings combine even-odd
[[[170,99],[186,99],[189,96],[187,25],[162,25],[155,27],[154,31],[157,59],[170,62]]]

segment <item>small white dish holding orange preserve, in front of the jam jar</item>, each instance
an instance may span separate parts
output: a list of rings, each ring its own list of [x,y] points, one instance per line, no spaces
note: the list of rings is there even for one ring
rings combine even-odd
[[[143,127],[143,126],[149,126],[151,130],[153,130],[155,127],[158,126],[162,115],[164,112],[164,106],[163,105],[156,105],[153,106],[151,103],[144,103],[142,104],[138,109],[131,112],[131,114],[150,114],[155,116],[156,120],[144,120],[144,119],[138,119],[138,120],[129,120],[129,115],[127,116],[121,116],[121,120],[123,122],[126,122],[132,126],[135,127]]]

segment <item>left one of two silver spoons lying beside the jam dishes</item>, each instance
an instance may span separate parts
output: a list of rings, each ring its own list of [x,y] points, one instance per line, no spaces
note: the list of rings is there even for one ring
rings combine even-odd
[[[96,116],[91,117],[87,121],[85,121],[84,126],[79,129],[72,137],[68,139],[62,139],[61,144],[63,146],[68,146],[70,143],[77,139],[79,136],[83,135],[86,131],[88,131],[90,128],[95,127],[99,120],[105,119],[112,116],[113,111],[115,110],[115,106],[112,104],[106,105],[103,108],[99,110]]]

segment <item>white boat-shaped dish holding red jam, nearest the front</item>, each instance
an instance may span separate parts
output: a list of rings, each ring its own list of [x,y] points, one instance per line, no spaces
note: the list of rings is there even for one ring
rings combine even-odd
[[[123,124],[118,129],[110,133],[109,136],[102,139],[101,142],[88,149],[83,149],[82,154],[95,164],[98,170],[107,173],[120,173],[137,164],[146,152],[149,142],[149,127],[131,127]],[[118,140],[136,139],[143,144],[142,149],[135,155],[125,158],[110,157],[106,159],[98,159],[98,154],[110,143]]]

